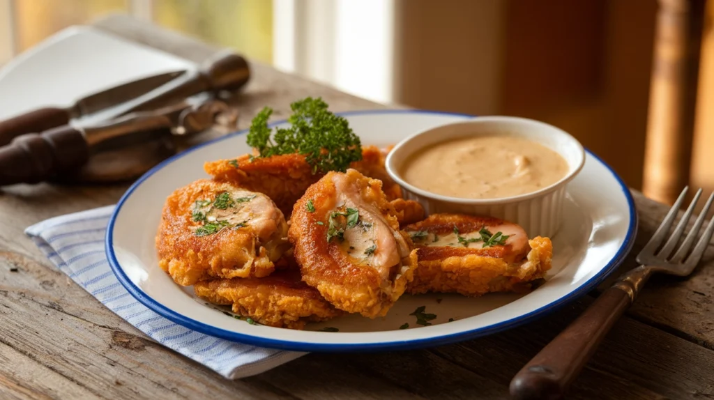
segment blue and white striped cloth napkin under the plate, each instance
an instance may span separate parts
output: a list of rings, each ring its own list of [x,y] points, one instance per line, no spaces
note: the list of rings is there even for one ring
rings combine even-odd
[[[134,299],[109,267],[104,234],[114,206],[51,218],[25,230],[61,272],[129,324],[226,378],[260,374],[305,353],[263,349],[192,331]]]

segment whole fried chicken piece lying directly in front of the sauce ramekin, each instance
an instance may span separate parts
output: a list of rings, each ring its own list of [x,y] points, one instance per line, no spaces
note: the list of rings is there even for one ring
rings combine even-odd
[[[404,230],[418,247],[411,294],[524,292],[550,270],[550,239],[528,240],[522,227],[498,218],[433,214]],[[489,237],[493,245],[483,247]]]

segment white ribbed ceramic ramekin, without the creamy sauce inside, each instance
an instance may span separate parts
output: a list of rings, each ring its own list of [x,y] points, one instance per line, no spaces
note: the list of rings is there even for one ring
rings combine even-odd
[[[470,136],[515,136],[545,145],[565,158],[568,174],[553,185],[536,192],[508,198],[463,199],[438,195],[416,188],[401,177],[401,165],[409,155],[430,145]],[[585,163],[585,150],[565,131],[537,120],[507,116],[477,117],[424,130],[398,143],[386,160],[387,172],[401,185],[404,198],[421,202],[427,215],[456,212],[488,215],[521,225],[528,237],[552,237],[563,217],[565,186],[578,175]]]

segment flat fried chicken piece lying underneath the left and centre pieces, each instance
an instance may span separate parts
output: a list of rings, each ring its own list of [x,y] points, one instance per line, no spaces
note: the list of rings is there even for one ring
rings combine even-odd
[[[233,278],[198,282],[198,297],[215,304],[231,304],[233,312],[271,327],[303,329],[343,314],[313,287],[300,280],[298,271],[279,271],[264,278]]]

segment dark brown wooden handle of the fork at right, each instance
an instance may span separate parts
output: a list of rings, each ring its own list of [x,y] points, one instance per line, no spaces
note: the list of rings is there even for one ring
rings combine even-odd
[[[511,381],[516,399],[562,399],[613,324],[630,306],[630,297],[610,287]]]

